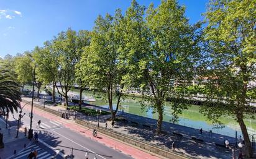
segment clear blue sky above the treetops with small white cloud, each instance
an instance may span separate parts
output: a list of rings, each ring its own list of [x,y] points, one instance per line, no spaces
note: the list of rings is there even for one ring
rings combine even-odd
[[[117,8],[125,11],[132,0],[0,0],[0,56],[42,46],[46,40],[71,27],[92,30],[99,14],[111,15]],[[160,0],[137,0],[139,4],[155,6]],[[190,23],[203,20],[208,0],[178,0],[186,6]]]

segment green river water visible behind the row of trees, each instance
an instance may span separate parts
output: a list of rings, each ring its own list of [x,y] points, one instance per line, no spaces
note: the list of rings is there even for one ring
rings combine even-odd
[[[27,87],[30,88],[30,87]],[[77,95],[79,95],[79,90],[71,90],[70,92],[73,92]],[[57,93],[58,96],[58,93]],[[88,103],[91,105],[98,105],[102,106],[103,108],[109,108],[106,98],[104,98],[104,94],[102,93],[93,93],[91,91],[84,91],[83,92],[83,98],[94,98],[96,101],[89,101]],[[126,113],[136,114],[139,116],[144,116],[147,118],[153,118],[157,119],[158,114],[153,113],[152,110],[142,110],[139,101],[142,100],[142,98],[139,97],[126,97],[121,100],[121,106],[119,106],[119,110]],[[114,98],[113,104],[114,107],[116,106],[117,99]],[[165,109],[163,113],[163,121],[170,122],[170,119],[172,118],[171,115],[171,108],[170,103],[165,103]],[[247,126],[247,131],[249,134],[253,135],[256,134],[256,119],[251,119],[249,116],[245,116],[244,122]],[[256,118],[256,114],[254,115]],[[203,116],[203,114],[199,113],[199,106],[197,105],[190,105],[188,107],[188,110],[184,110],[182,114],[179,115],[179,121],[177,124],[180,124],[182,126],[188,126],[193,127],[196,129],[202,128],[204,131],[213,131],[217,134],[222,135],[229,135],[231,137],[235,137],[235,131],[237,131],[237,135],[242,135],[242,132],[240,131],[240,126],[238,122],[234,120],[231,116],[227,115],[221,118],[221,122],[224,123],[225,127],[222,129],[214,129],[213,124],[211,121],[208,121],[206,117]]]

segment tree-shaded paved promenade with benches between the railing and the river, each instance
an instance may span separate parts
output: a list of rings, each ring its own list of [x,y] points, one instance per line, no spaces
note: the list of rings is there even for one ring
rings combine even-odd
[[[31,100],[31,98],[24,98],[24,100]],[[39,105],[43,105],[43,100],[38,102],[35,100],[35,103]],[[48,108],[52,108],[58,111],[65,111],[65,108],[62,106],[53,106],[53,105],[45,105]],[[89,108],[99,107],[94,106],[86,106]],[[101,108],[104,109],[104,108]],[[129,113],[117,113],[119,118],[124,118],[128,122],[116,122],[115,127],[111,127],[111,122],[107,121],[110,118],[110,115],[107,116],[99,116],[99,126],[105,127],[107,122],[107,127],[114,129],[114,131],[119,131],[123,134],[129,135],[135,139],[143,140],[144,142],[149,142],[149,144],[156,144],[159,147],[171,148],[171,144],[175,142],[175,151],[186,153],[186,155],[190,155],[191,157],[197,158],[231,158],[232,151],[228,148],[216,147],[215,143],[223,144],[224,140],[229,140],[231,143],[231,147],[235,148],[235,139],[232,137],[227,137],[224,135],[204,132],[201,134],[198,129],[193,129],[190,127],[180,126],[177,124],[171,124],[170,122],[163,122],[163,132],[162,135],[157,135],[155,132],[156,129],[156,120],[150,118],[144,118],[141,116],[136,116],[134,114]],[[85,116],[81,113],[77,113],[77,117],[80,119],[84,119],[86,121],[92,122],[93,124],[97,124],[98,120],[93,116]],[[131,124],[132,122],[139,123],[138,126],[136,124]],[[146,125],[146,126],[143,126]],[[71,125],[70,125],[71,126]],[[147,127],[147,126],[150,126]],[[81,132],[81,131],[80,131]],[[178,137],[173,135],[173,132],[182,134],[183,137]],[[197,142],[191,137],[195,137],[197,139],[202,139],[203,142]],[[238,156],[239,150],[235,148],[235,156]]]

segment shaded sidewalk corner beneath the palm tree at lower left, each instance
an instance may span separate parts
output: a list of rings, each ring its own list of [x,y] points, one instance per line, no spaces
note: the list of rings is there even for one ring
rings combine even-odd
[[[11,118],[8,119],[11,122]],[[6,159],[14,155],[14,150],[16,150],[16,154],[24,150],[24,145],[26,147],[30,144],[29,139],[24,136],[24,132],[22,132],[22,128],[19,131],[19,136],[16,138],[17,133],[17,126],[11,126],[6,129],[6,122],[3,120],[3,118],[0,118],[0,133],[3,134],[3,142],[4,142],[4,148],[0,148],[0,158]],[[9,130],[11,134],[9,133]]]

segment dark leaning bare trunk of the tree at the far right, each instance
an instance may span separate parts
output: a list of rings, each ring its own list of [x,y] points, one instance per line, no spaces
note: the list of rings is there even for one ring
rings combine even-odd
[[[237,119],[238,119],[238,122],[239,122],[239,125],[240,125],[240,128],[241,128],[242,134],[244,136],[245,155],[247,157],[252,157],[252,155],[254,153],[253,153],[253,150],[252,150],[252,145],[250,144],[250,139],[249,139],[249,134],[247,132],[247,127],[244,124],[244,119],[242,118],[241,114],[237,113],[236,116],[237,116]]]

